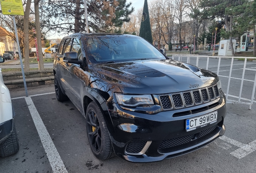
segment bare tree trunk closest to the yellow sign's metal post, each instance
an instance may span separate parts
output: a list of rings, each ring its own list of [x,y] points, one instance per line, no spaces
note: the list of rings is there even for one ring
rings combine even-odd
[[[26,9],[24,13],[24,67],[25,71],[29,71],[29,11],[31,0],[27,0]],[[21,57],[20,57],[21,58]]]

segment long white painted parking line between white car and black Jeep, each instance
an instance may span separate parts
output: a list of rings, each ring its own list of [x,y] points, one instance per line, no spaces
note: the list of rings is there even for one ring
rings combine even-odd
[[[41,142],[43,144],[43,148],[44,148],[46,155],[49,159],[50,165],[52,167],[52,171],[54,173],[68,173],[45,125],[43,124],[43,121],[42,121],[39,113],[37,112],[37,109],[31,99],[31,97],[25,97],[25,100],[29,107],[31,117],[35,123],[35,127],[37,129],[37,132],[39,134]]]

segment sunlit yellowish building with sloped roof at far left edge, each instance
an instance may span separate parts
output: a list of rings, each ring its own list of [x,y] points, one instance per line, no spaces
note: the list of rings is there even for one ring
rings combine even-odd
[[[15,40],[10,37],[10,33],[0,26],[0,55],[5,51],[17,51],[18,46]]]

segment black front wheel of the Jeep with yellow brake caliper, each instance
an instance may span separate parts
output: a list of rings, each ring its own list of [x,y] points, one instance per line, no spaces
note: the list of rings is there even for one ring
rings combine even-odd
[[[95,157],[105,160],[115,156],[103,114],[95,102],[87,107],[86,132]]]

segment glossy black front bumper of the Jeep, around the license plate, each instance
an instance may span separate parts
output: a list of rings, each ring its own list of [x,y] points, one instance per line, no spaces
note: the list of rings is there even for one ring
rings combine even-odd
[[[127,161],[153,162],[205,147],[225,133],[223,125],[227,111],[225,97],[219,98],[217,102],[218,106],[206,111],[179,117],[172,117],[177,111],[163,111],[149,115],[122,109],[115,103],[107,103],[111,117],[111,125],[107,123],[107,126],[114,151],[116,155]],[[182,109],[182,111],[205,106],[207,104]],[[214,111],[218,111],[216,123],[193,131],[185,130],[186,119]]]

